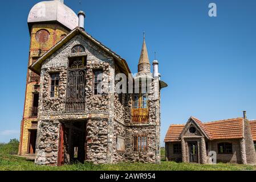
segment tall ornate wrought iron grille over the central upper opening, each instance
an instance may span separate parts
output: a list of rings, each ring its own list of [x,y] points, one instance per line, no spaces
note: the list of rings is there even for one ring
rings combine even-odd
[[[86,61],[84,57],[70,60],[67,79],[66,111],[84,111],[86,87]]]

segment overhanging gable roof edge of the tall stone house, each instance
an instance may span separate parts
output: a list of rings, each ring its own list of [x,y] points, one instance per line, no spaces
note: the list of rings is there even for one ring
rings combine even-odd
[[[84,37],[88,38],[92,42],[94,42],[97,46],[99,46],[101,49],[103,49],[105,52],[109,53],[115,60],[116,63],[119,64],[119,66],[124,69],[125,73],[131,73],[127,62],[121,58],[121,56],[117,55],[115,52],[111,51],[111,49],[105,47],[103,44],[101,44],[99,41],[94,39],[91,35],[87,34],[82,28],[76,27],[74,30],[72,30],[65,38],[63,38],[59,43],[57,43],[54,47],[52,47],[50,50],[48,50],[42,57],[40,57],[37,61],[35,61],[34,64],[32,64],[29,69],[31,69],[33,72],[40,75],[42,63],[44,60],[46,60],[48,57],[50,57],[53,53],[58,51],[64,44],[66,44],[69,40],[74,38],[76,35],[83,35]]]

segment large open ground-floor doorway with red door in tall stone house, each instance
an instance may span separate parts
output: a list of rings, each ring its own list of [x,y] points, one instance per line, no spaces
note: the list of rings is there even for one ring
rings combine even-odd
[[[61,123],[58,166],[86,160],[86,122]]]

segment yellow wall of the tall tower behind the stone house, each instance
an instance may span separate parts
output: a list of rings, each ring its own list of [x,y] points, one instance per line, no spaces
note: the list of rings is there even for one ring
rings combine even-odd
[[[39,43],[36,41],[35,35],[36,32],[39,30],[47,30],[50,33],[50,36],[45,43]],[[40,57],[45,52],[47,52],[50,48],[52,48],[56,43],[58,43],[63,35],[68,34],[68,30],[66,28],[60,26],[59,24],[34,24],[31,28],[31,38],[30,38],[30,57],[29,57],[29,64],[32,64],[33,57]],[[39,51],[41,49],[41,51]],[[40,53],[41,52],[41,53]],[[29,75],[31,71],[28,69],[27,71],[27,85],[26,85],[26,100],[25,100],[25,109],[23,115],[23,135],[21,131],[21,142],[19,147],[19,154],[26,155],[27,154],[27,147],[28,147],[28,140],[29,140],[29,129],[31,128],[32,122],[37,121],[37,118],[30,118],[30,107],[32,106],[33,100],[33,92],[34,85],[36,82],[28,82]],[[22,130],[22,127],[21,127]]]

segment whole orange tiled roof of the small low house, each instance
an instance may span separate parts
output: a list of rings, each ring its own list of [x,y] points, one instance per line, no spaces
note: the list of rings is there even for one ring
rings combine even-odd
[[[210,140],[243,138],[243,118],[225,119],[206,123],[194,117],[191,117],[191,119],[200,126]],[[251,133],[254,140],[256,140],[256,120],[250,121],[250,125]],[[181,128],[182,126],[183,128]],[[164,142],[176,142],[180,140],[177,135],[180,136],[184,127],[185,125],[170,125]],[[180,134],[178,134],[179,131]]]

